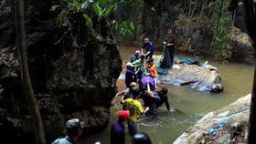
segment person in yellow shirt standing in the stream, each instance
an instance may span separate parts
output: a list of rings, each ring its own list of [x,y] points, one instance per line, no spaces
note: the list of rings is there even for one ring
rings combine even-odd
[[[130,111],[130,117],[128,118],[128,129],[130,135],[136,132],[136,122],[138,121],[140,115],[144,114],[149,110],[149,108],[143,108],[141,102],[138,100],[140,98],[139,88],[133,89],[133,98],[127,98],[121,100],[121,103],[126,106]]]

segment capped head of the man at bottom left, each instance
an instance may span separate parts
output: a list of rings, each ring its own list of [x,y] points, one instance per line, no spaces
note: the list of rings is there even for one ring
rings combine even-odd
[[[66,122],[66,133],[69,137],[79,137],[84,127],[84,122],[80,121],[79,118],[72,118]]]

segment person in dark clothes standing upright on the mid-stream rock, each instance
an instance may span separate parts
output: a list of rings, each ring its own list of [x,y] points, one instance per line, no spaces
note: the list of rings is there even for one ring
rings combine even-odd
[[[175,37],[173,36],[173,30],[169,29],[168,34],[165,36],[164,45],[169,52],[170,67],[173,67],[174,54],[175,54]]]

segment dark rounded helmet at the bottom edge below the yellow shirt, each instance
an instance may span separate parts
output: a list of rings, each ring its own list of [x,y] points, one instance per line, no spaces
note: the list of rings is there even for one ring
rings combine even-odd
[[[152,142],[146,133],[140,131],[133,135],[133,144],[152,144]]]

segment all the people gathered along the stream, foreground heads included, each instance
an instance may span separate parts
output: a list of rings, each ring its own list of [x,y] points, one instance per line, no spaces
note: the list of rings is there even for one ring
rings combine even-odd
[[[175,40],[171,29],[168,30],[168,35],[165,36],[164,45],[164,51],[166,50],[168,52],[168,62],[170,67],[172,67],[174,62]],[[125,71],[126,89],[117,93],[112,99],[112,104],[114,104],[116,98],[121,97],[121,104],[123,104],[123,110],[118,112],[118,120],[112,123],[112,144],[125,143],[124,121],[127,121],[129,134],[133,138],[133,144],[152,144],[148,135],[138,130],[137,122],[139,121],[140,115],[155,117],[157,108],[164,103],[169,112],[175,111],[174,108],[170,108],[168,102],[168,89],[166,87],[156,87],[155,77],[158,76],[158,73],[153,59],[154,52],[155,47],[153,43],[146,37],[144,38],[141,51],[136,50],[131,57],[131,62],[127,63]],[[139,100],[140,98],[143,99],[144,107]],[[84,127],[84,122],[79,118],[69,119],[65,125],[66,136],[64,138],[55,139],[52,144],[77,143]]]

